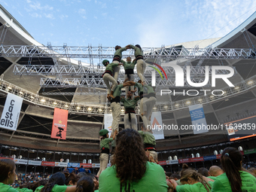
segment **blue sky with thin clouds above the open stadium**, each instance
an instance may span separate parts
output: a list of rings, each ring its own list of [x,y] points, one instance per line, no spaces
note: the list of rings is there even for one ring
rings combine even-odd
[[[160,47],[227,35],[254,0],[0,0],[41,44]]]

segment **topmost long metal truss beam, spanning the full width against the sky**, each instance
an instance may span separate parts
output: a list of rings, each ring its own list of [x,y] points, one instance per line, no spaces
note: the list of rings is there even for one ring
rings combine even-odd
[[[145,59],[255,59],[252,49],[212,48],[203,49],[184,47],[145,47]],[[113,58],[114,47],[72,47],[72,46],[34,46],[1,45],[0,55],[9,57],[52,57],[52,58]],[[133,50],[123,51],[123,56],[133,56]]]

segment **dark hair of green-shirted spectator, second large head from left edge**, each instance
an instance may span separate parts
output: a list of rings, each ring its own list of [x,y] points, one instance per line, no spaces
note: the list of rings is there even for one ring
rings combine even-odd
[[[51,175],[49,182],[41,188],[40,192],[50,192],[55,184],[64,185],[66,177],[62,172],[56,172]]]

